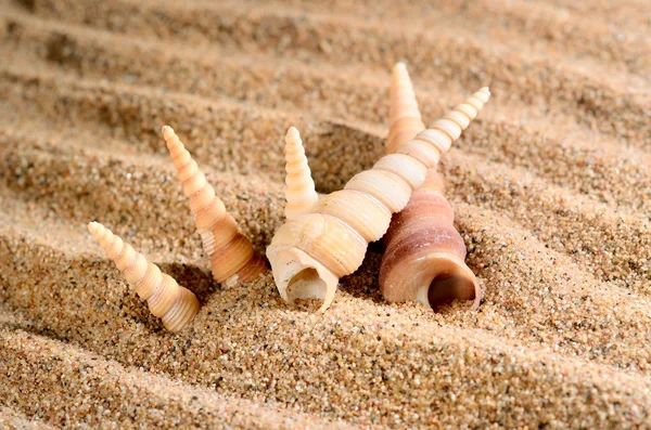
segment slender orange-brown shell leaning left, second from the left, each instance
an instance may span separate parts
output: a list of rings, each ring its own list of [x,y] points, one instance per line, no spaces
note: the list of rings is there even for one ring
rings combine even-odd
[[[163,127],[163,138],[177,169],[183,194],[190,199],[196,230],[218,283],[234,285],[255,278],[266,270],[264,260],[253,250],[224,201],[206,181],[171,127]]]

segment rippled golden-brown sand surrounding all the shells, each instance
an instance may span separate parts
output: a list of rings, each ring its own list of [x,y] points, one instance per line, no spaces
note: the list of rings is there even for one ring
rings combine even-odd
[[[651,427],[643,0],[0,2],[0,427]],[[576,4],[575,4],[576,3]],[[215,285],[161,127],[264,252],[297,127],[320,193],[489,86],[442,171],[478,312],[388,304],[382,247],[317,315]],[[86,232],[192,289],[165,331]]]

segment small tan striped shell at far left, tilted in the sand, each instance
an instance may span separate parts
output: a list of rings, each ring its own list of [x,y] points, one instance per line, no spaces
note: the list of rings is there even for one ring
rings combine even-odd
[[[163,320],[165,328],[176,333],[192,322],[200,307],[192,291],[179,286],[171,276],[162,273],[156,264],[146,261],[142,253],[99,222],[89,223],[88,231],[136,288],[138,296],[146,300],[152,314]]]

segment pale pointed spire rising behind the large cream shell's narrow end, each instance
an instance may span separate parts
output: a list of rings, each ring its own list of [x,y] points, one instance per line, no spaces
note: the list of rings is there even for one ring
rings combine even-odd
[[[386,153],[393,154],[398,146],[425,129],[405,63],[396,63],[393,68],[390,96]]]

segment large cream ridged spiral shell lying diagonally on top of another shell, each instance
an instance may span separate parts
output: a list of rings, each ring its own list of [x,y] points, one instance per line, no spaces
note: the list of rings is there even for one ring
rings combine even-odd
[[[474,118],[489,96],[484,88],[463,106],[473,107]],[[455,108],[441,121],[463,109]],[[276,232],[267,258],[285,301],[319,299],[323,301],[319,311],[328,309],[340,277],[359,268],[368,244],[384,235],[392,213],[405,208],[412,190],[424,181],[426,169],[436,166],[441,153],[449,148],[470,119],[454,123],[444,122],[450,134],[438,128],[421,131],[396,154],[382,157],[372,169],[356,174],[344,190],[323,197],[308,213],[288,220]],[[459,128],[458,133],[454,127]]]

